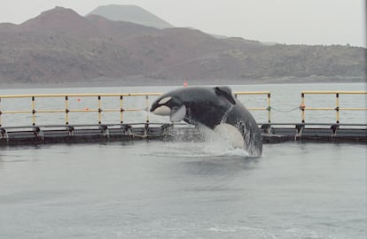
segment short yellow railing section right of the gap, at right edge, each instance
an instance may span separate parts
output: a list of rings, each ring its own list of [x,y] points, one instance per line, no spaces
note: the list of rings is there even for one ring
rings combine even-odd
[[[335,107],[307,107],[306,95],[335,95]],[[301,118],[305,122],[306,111],[335,111],[336,123],[340,123],[340,111],[367,111],[365,107],[340,107],[340,95],[367,95],[367,91],[302,91],[301,92]]]

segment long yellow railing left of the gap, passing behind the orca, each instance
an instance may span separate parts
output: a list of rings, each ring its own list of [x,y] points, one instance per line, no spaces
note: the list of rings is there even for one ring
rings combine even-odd
[[[256,92],[245,92],[245,91],[238,91],[234,92],[235,96],[240,95],[266,95],[268,96],[267,107],[262,108],[248,108],[250,111],[268,111],[268,121],[270,122],[270,92],[269,91],[256,91]],[[149,97],[150,96],[160,96],[161,93],[105,93],[105,94],[34,94],[34,95],[3,95],[0,96],[0,127],[2,126],[2,115],[4,114],[30,114],[32,119],[32,125],[35,126],[36,124],[36,115],[41,113],[65,113],[65,124],[69,124],[69,114],[72,112],[98,112],[98,124],[102,124],[102,112],[120,112],[120,123],[123,123],[124,117],[123,112],[146,112],[146,119],[145,121],[149,122]],[[145,97],[145,105],[142,108],[124,108],[124,99],[126,97],[136,97],[136,96],[143,96]],[[71,97],[95,97],[98,100],[98,106],[94,109],[71,109],[69,105],[69,100]],[[114,109],[103,109],[101,104],[101,99],[109,97],[109,98],[116,98],[116,100],[120,101],[120,107]],[[2,111],[2,99],[15,99],[15,98],[25,98],[31,100],[31,109],[30,110],[22,110],[22,111]],[[59,98],[64,101],[65,108],[64,109],[51,109],[51,110],[41,110],[37,108],[37,99],[39,98]]]

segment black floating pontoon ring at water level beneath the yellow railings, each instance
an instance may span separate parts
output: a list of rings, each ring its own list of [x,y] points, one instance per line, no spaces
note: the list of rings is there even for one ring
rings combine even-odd
[[[363,128],[361,128],[363,127]],[[367,143],[367,125],[263,124],[263,143]],[[0,127],[0,145],[95,143],[129,140],[201,141],[201,129],[184,124]]]

